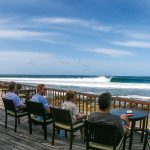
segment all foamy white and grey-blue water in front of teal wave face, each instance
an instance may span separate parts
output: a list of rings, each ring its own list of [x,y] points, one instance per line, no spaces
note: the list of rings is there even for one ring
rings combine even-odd
[[[49,88],[71,89],[80,92],[100,94],[111,92],[113,96],[150,101],[150,83],[112,82],[112,77],[1,77],[0,81],[37,85]]]

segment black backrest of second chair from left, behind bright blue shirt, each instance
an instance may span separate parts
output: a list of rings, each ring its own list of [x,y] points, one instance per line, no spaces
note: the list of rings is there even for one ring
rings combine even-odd
[[[26,107],[29,114],[45,115],[45,109],[42,103],[27,100]]]

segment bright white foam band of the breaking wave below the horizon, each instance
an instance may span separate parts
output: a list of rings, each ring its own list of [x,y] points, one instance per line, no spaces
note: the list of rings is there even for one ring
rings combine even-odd
[[[79,86],[91,88],[113,88],[113,89],[150,89],[150,84],[143,83],[119,83],[110,82],[111,77],[95,78],[0,78],[0,81],[16,81],[27,84],[46,84],[46,85],[63,85]]]

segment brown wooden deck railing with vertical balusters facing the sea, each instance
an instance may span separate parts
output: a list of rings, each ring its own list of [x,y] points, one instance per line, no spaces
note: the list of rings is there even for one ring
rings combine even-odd
[[[32,90],[35,90],[35,86],[21,84],[22,89],[31,90],[30,95],[28,98],[30,99],[32,94]],[[46,97],[49,101],[49,104],[60,107],[61,104],[65,101],[65,95],[67,90],[59,90],[59,89],[51,89],[47,88]],[[95,112],[99,110],[98,107],[98,97],[99,95],[90,94],[90,93],[82,93],[77,92],[77,101],[76,104],[79,108],[79,112],[84,112],[90,114],[91,112]],[[150,102],[143,101],[143,100],[135,100],[135,99],[128,99],[128,98],[121,98],[121,97],[113,97],[112,98],[112,109],[115,108],[136,108],[145,111],[150,111]],[[150,118],[150,117],[149,117]],[[150,119],[149,119],[150,120]],[[148,124],[148,119],[147,119]],[[150,124],[150,123],[149,123]]]

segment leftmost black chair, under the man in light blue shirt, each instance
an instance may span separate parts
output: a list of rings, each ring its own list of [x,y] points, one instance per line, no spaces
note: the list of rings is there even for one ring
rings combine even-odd
[[[15,117],[15,129],[17,131],[17,122],[20,123],[20,117],[27,116],[24,110],[16,110],[13,100],[2,98],[5,107],[5,128],[7,128],[7,115]],[[18,121],[17,121],[18,120]]]

